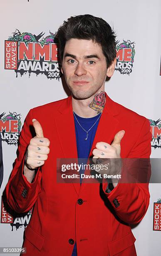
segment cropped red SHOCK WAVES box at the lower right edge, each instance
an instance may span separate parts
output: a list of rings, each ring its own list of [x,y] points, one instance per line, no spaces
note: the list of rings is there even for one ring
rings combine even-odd
[[[161,202],[154,203],[153,230],[161,231]]]

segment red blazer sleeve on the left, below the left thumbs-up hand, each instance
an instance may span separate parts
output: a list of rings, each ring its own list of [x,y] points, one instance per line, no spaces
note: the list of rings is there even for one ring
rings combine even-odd
[[[12,210],[18,213],[28,212],[35,204],[37,196],[41,190],[40,181],[42,174],[40,168],[38,169],[32,183],[28,182],[26,177],[23,175],[25,153],[34,134],[32,119],[33,114],[32,110],[30,110],[26,116],[25,123],[20,134],[17,159],[15,159],[14,168],[5,188],[8,205]]]

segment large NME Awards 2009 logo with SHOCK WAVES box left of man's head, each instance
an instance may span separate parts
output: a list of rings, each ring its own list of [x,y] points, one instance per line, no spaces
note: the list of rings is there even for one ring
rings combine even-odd
[[[31,73],[45,74],[48,79],[61,77],[59,44],[56,33],[43,37],[45,33],[35,35],[21,33],[18,29],[5,41],[5,69],[12,69],[21,76]]]

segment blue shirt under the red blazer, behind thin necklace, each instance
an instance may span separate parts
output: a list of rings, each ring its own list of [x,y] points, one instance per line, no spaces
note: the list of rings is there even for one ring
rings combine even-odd
[[[92,129],[88,132],[88,138],[87,138],[87,133],[81,128],[81,126],[77,122],[76,118],[74,117],[78,158],[79,159],[83,158],[84,161],[87,162],[87,159],[89,157],[89,153],[91,151],[91,147],[92,147],[92,144],[94,141],[94,136],[97,131],[97,126],[98,126],[99,119],[100,119],[99,116],[101,114],[94,116],[93,118],[82,118],[82,117],[78,116],[76,113],[74,113],[74,114],[75,114],[78,122],[80,123],[80,125],[82,125],[82,127],[86,131],[88,131],[92,127],[92,125],[94,125],[94,123],[97,121],[95,123],[95,125],[92,127]],[[85,138],[87,138],[87,140],[85,140]],[[86,164],[86,162],[84,162],[84,164]],[[82,160],[79,164],[82,164]],[[81,173],[84,173],[84,170],[80,170],[79,174],[81,174]],[[80,180],[80,182],[82,182],[82,180]],[[74,244],[72,256],[77,256],[77,244],[76,243]]]

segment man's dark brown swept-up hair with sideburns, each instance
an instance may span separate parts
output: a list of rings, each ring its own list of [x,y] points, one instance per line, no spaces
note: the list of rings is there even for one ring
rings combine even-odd
[[[77,15],[64,21],[56,33],[59,41],[60,57],[63,59],[64,47],[71,38],[86,39],[102,46],[102,51],[107,60],[107,67],[112,64],[116,57],[115,32],[102,18],[90,14]]]

